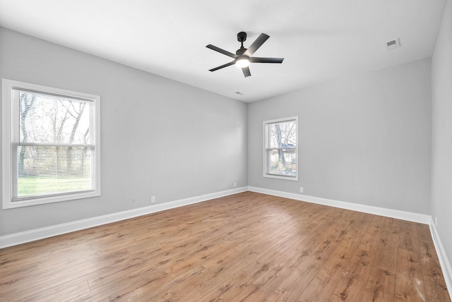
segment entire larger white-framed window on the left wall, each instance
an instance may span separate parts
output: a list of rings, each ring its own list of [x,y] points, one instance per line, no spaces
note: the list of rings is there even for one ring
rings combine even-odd
[[[3,80],[3,207],[100,195],[100,97]]]

